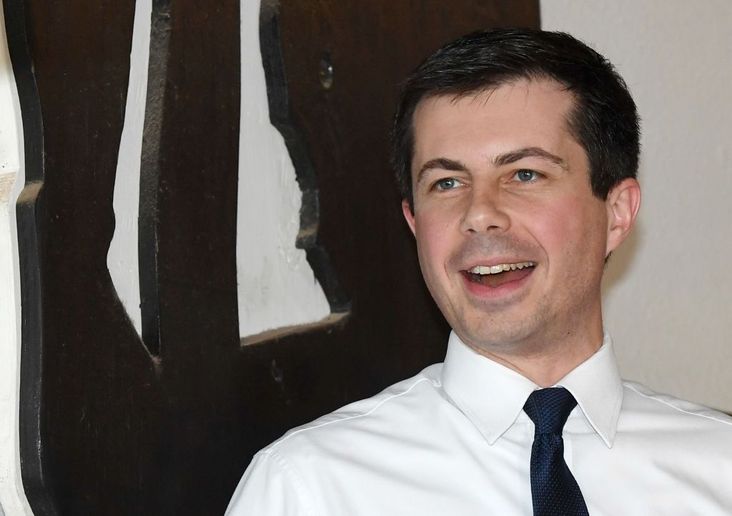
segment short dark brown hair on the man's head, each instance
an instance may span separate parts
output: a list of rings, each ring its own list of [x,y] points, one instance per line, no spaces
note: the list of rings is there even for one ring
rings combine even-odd
[[[404,82],[392,130],[392,165],[414,210],[411,167],[414,112],[425,98],[456,98],[520,79],[550,79],[575,97],[569,129],[590,164],[595,196],[636,177],[640,129],[635,102],[613,65],[563,32],[492,29],[473,32],[428,57]]]

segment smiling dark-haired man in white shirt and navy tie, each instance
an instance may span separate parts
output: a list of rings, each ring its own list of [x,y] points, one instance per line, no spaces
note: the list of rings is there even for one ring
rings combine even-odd
[[[732,420],[622,382],[603,334],[638,132],[566,34],[478,32],[420,65],[394,163],[445,362],[262,450],[229,514],[731,514]]]

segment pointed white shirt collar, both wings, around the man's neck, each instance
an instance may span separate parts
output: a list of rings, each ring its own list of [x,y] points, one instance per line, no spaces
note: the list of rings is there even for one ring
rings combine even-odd
[[[452,332],[442,368],[442,385],[452,402],[470,419],[489,444],[516,421],[529,394],[540,387],[508,367],[473,351]],[[559,382],[577,400],[592,428],[612,446],[623,387],[612,341],[605,335],[600,349]]]

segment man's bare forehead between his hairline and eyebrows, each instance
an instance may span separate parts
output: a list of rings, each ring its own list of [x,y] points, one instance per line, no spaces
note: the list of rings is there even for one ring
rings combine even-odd
[[[574,107],[574,95],[548,79],[425,98],[414,113],[413,169],[435,155],[490,155],[523,147],[570,152],[579,145],[568,125]]]

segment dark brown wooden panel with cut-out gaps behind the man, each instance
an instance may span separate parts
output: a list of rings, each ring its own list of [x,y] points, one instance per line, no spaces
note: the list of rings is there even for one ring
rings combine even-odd
[[[18,215],[21,455],[37,514],[221,514],[257,449],[442,359],[448,328],[388,167],[396,86],[461,33],[538,26],[537,2],[265,5],[275,121],[319,198],[303,215],[317,236],[300,244],[350,315],[251,346],[236,311],[238,2],[154,2],[147,106],[160,117],[146,122],[141,193],[153,355],[106,268],[135,3],[4,3],[35,181]]]

